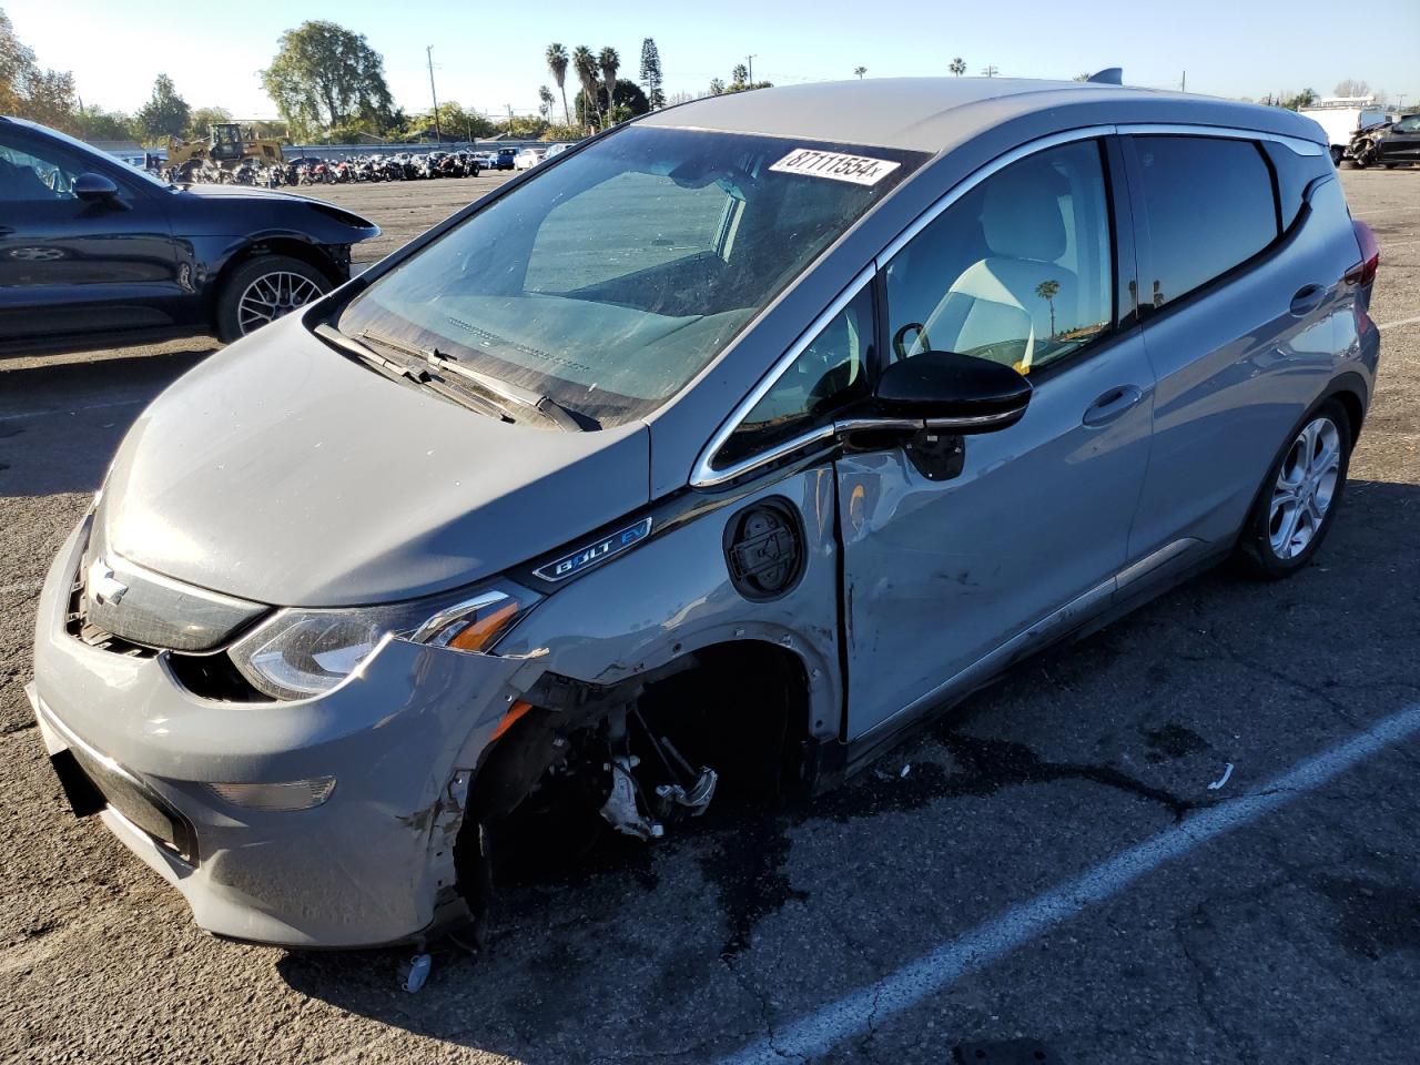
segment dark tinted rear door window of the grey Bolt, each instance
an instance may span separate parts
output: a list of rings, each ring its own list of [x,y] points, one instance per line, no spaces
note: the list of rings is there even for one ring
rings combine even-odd
[[[1142,305],[1164,307],[1278,236],[1272,172],[1251,141],[1136,136],[1152,251]]]

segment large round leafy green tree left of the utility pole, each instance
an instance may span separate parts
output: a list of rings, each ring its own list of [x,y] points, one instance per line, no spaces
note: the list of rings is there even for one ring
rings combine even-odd
[[[393,122],[385,60],[364,34],[328,21],[281,34],[261,84],[300,138],[322,126],[358,124],[383,132]]]

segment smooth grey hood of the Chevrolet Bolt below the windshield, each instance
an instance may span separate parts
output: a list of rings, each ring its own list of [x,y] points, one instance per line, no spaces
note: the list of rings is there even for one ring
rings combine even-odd
[[[508,425],[368,369],[284,318],[139,416],[98,520],[159,574],[285,606],[471,584],[648,503],[649,430]]]

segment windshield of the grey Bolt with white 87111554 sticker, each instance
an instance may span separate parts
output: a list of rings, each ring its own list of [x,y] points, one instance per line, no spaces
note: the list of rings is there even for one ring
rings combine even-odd
[[[822,166],[861,162],[836,176],[785,169],[804,149]],[[684,386],[922,159],[632,126],[470,216],[338,325],[437,348],[618,425]]]

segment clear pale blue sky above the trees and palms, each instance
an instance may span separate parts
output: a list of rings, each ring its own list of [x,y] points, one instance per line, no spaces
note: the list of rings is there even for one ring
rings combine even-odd
[[[1069,78],[1122,65],[1130,85],[1225,97],[1311,87],[1329,95],[1363,78],[1420,104],[1420,0],[0,0],[20,40],[45,67],[74,71],[85,104],[133,111],[153,77],[169,74],[193,106],[274,118],[258,71],[277,38],[307,18],[365,34],[385,57],[395,101],[429,106],[425,45],[435,45],[439,99],[506,114],[537,108],[552,87],[548,43],[621,53],[636,80],[643,37],[660,48],[666,89],[703,92],[754,54],[754,77],[775,84],[852,77],[970,74]],[[1365,14],[1359,14],[1365,11]],[[572,89],[569,87],[568,98]]]

